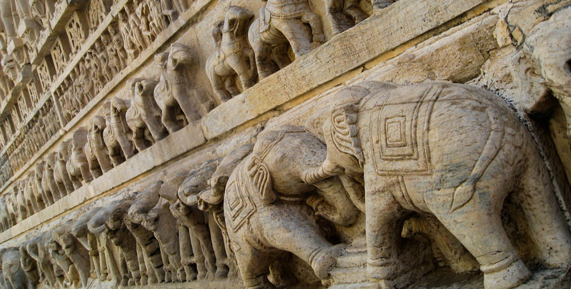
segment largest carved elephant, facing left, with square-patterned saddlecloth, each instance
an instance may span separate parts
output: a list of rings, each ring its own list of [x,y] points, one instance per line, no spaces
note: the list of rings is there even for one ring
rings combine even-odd
[[[327,158],[304,180],[364,175],[367,273],[381,287],[412,282],[415,257],[399,227],[411,211],[434,215],[459,239],[480,263],[486,289],[525,282],[530,272],[500,219],[510,192],[538,259],[569,266],[571,234],[548,170],[500,97],[461,84],[371,82],[343,89],[336,100],[323,124]]]

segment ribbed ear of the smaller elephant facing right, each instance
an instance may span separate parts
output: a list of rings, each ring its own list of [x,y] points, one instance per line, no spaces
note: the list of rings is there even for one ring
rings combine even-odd
[[[278,200],[278,195],[276,195],[272,187],[270,170],[258,155],[252,156],[247,166],[247,173],[256,192],[260,194],[262,202],[269,205]]]

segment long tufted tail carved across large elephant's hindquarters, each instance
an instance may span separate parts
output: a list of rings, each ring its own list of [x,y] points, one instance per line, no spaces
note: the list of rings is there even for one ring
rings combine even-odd
[[[476,192],[476,184],[488,169],[488,166],[500,152],[502,146],[502,140],[504,140],[504,128],[501,123],[501,113],[494,103],[489,103],[486,109],[488,113],[488,119],[490,121],[490,134],[488,136],[488,141],[484,145],[484,150],[480,154],[480,157],[476,161],[476,164],[472,168],[470,176],[462,182],[454,191],[454,196],[451,203],[451,211],[460,209],[468,203],[474,193]]]

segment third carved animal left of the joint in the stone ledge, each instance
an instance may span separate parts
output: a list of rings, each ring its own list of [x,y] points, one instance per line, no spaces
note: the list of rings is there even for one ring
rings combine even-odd
[[[110,103],[104,104],[103,107],[105,108],[107,105],[108,113],[106,115],[106,127],[103,129],[103,140],[113,166],[118,166],[136,153],[132,143],[133,132],[127,125],[126,119],[126,113],[131,102],[113,97]]]

